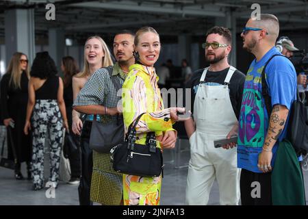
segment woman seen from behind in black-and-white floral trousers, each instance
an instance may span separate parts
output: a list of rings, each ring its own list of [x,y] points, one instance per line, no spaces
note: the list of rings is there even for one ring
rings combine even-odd
[[[52,182],[53,187],[57,188],[63,128],[68,129],[63,99],[63,82],[61,77],[57,76],[55,62],[48,52],[36,53],[30,75],[24,132],[28,135],[29,130],[31,130],[33,136],[33,190],[44,188],[44,144],[46,135],[50,146],[49,182]]]

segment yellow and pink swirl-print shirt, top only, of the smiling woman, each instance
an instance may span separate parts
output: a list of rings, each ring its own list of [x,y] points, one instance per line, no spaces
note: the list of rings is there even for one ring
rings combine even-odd
[[[123,117],[125,133],[131,123],[142,115],[137,126],[137,144],[145,144],[146,132],[155,131],[155,136],[161,136],[162,131],[172,129],[170,108],[164,109],[164,103],[157,86],[158,77],[155,68],[133,64],[123,83]],[[159,143],[157,142],[157,146]]]

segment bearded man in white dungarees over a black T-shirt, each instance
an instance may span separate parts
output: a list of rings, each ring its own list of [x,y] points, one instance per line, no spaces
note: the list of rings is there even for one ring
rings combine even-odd
[[[240,171],[236,149],[214,147],[214,140],[233,136],[238,127],[245,75],[228,63],[231,32],[224,27],[207,31],[205,59],[209,67],[197,70],[188,82],[192,88],[193,117],[185,121],[190,138],[190,164],[186,204],[207,205],[211,186],[219,185],[220,205],[238,205]]]

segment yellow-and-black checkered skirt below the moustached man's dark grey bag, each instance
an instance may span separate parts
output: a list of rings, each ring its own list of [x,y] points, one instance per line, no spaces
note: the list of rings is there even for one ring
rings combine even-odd
[[[120,205],[123,198],[123,176],[112,168],[109,153],[93,151],[90,198],[102,205]]]

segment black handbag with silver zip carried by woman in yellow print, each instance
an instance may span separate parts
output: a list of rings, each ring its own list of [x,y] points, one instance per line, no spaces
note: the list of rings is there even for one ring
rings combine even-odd
[[[157,148],[155,133],[147,133],[146,144],[136,144],[136,125],[129,126],[122,144],[114,146],[110,151],[112,166],[115,171],[139,177],[159,177],[164,168],[162,151]]]

